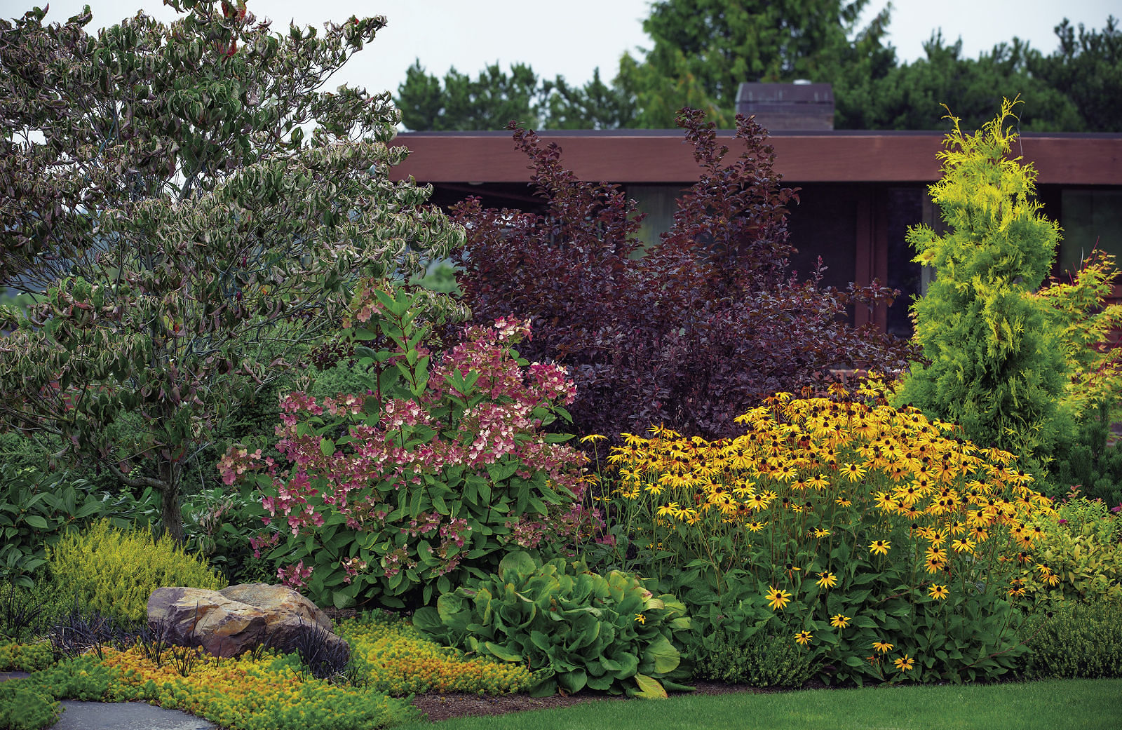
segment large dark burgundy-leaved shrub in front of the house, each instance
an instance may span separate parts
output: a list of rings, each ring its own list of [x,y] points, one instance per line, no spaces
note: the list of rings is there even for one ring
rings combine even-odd
[[[473,318],[533,320],[519,351],[570,368],[578,432],[664,424],[730,435],[733,418],[762,397],[819,388],[831,368],[901,367],[907,343],[846,315],[899,292],[877,283],[839,292],[819,286],[820,271],[789,274],[787,206],[799,198],[780,186],[765,130],[737,117],[745,151],[726,165],[729,150],[702,112],[682,110],[679,126],[701,175],[656,246],[636,240],[641,216],[618,186],[578,181],[557,145],[513,124],[545,213],[482,209],[478,198],[453,207],[468,229],[458,264]]]

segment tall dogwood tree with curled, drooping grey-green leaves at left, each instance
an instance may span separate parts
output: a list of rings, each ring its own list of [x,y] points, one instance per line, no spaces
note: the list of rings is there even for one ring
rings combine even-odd
[[[0,20],[0,287],[31,301],[0,311],[0,422],[155,488],[182,539],[184,466],[231,409],[358,275],[408,276],[462,231],[389,179],[389,94],[324,91],[385,18],[278,34],[240,1],[167,4],[171,26],[96,35],[89,6]]]

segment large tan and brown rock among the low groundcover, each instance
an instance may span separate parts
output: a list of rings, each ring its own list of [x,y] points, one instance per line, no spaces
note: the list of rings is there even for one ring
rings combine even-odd
[[[331,619],[285,585],[159,588],[148,599],[148,623],[160,627],[171,644],[201,646],[215,656],[237,656],[258,644],[295,652],[314,634],[321,652],[343,662],[349,653],[347,641],[332,634]]]

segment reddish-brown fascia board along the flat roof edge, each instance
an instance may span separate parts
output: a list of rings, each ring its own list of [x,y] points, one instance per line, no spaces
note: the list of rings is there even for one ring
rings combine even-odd
[[[692,148],[681,130],[543,131],[581,179],[672,184],[697,179]],[[737,154],[730,131],[718,132]],[[939,131],[776,132],[775,169],[789,183],[930,183],[939,177]],[[394,145],[412,150],[392,174],[422,183],[524,183],[528,158],[508,131],[404,132]],[[1034,164],[1039,184],[1122,185],[1122,135],[1031,133],[1013,154]]]

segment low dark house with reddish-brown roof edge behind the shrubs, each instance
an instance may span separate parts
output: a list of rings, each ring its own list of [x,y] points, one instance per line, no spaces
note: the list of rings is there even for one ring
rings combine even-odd
[[[791,105],[798,103],[803,102]],[[833,96],[828,103],[833,119]],[[811,120],[801,126],[822,122],[812,119],[811,107],[797,109]],[[624,185],[647,214],[644,241],[656,241],[670,227],[675,197],[697,179],[691,148],[679,130],[540,136],[561,146],[562,161],[582,179]],[[413,132],[399,135],[395,144],[412,150],[395,175],[432,184],[436,204],[477,195],[487,206],[541,206],[527,186],[527,159],[507,131]],[[939,177],[942,132],[775,129],[771,144],[784,184],[802,188],[801,204],[789,219],[799,249],[793,268],[806,272],[820,256],[829,267],[826,284],[845,287],[876,278],[907,295],[923,290],[928,274],[911,262],[904,234],[909,225],[939,224],[927,186]],[[736,154],[732,140],[729,147]],[[1070,269],[1096,246],[1122,260],[1122,135],[1024,133],[1019,153],[1039,173],[1043,213],[1064,229],[1054,274]],[[1122,287],[1114,294],[1122,296]],[[870,315],[857,311],[854,317],[859,324]],[[873,317],[890,332],[911,332],[907,299]]]

